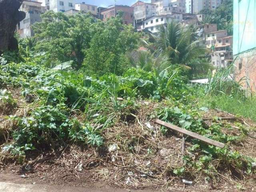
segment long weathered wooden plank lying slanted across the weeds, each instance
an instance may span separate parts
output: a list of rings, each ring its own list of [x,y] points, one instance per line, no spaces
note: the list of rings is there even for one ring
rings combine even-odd
[[[193,138],[199,139],[199,140],[201,140],[201,141],[203,141],[203,142],[206,142],[206,143],[208,143],[208,144],[211,144],[211,145],[214,145],[214,146],[217,146],[217,147],[220,147],[220,148],[224,148],[224,147],[225,147],[225,144],[224,144],[224,143],[221,143],[221,142],[212,140],[212,139],[210,139],[210,138],[204,137],[204,136],[202,136],[202,135],[199,135],[199,134],[197,134],[197,133],[191,132],[191,131],[189,131],[189,130],[182,129],[182,128],[178,127],[178,126],[175,126],[175,125],[173,125],[173,124],[164,122],[164,121],[162,121],[162,120],[160,120],[160,119],[156,119],[155,122],[156,122],[157,124],[160,124],[160,125],[163,125],[163,126],[165,126],[165,127],[168,127],[168,128],[170,128],[170,129],[172,129],[172,130],[175,130],[175,131],[178,131],[178,132],[180,132],[180,133],[183,133],[183,134],[186,134],[186,135],[188,135],[188,136],[191,136],[191,137],[193,137]]]

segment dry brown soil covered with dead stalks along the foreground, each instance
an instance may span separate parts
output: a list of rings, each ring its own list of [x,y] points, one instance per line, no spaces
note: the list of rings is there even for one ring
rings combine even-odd
[[[17,91],[18,92],[18,91]],[[24,99],[16,94],[14,98],[24,106]],[[58,150],[33,151],[26,154],[23,165],[10,154],[0,154],[0,180],[10,182],[76,187],[123,188],[153,191],[225,191],[235,192],[241,189],[253,191],[256,188],[255,174],[240,178],[228,167],[222,166],[216,178],[207,182],[203,172],[186,171],[186,176],[174,175],[173,167],[183,165],[181,145],[182,136],[168,132],[162,136],[160,126],[148,118],[158,103],[143,102],[136,115],[125,116],[126,122],[118,122],[104,132],[105,146],[92,148],[84,144],[59,144]],[[22,107],[13,109],[13,113]],[[26,111],[24,112],[26,114]],[[24,114],[23,113],[23,114]],[[19,115],[23,115],[21,112]],[[2,113],[3,116],[3,113]],[[210,125],[216,121],[222,123],[226,134],[240,135],[246,127],[246,134],[241,141],[230,145],[230,150],[237,150],[244,155],[256,157],[254,143],[255,124],[250,119],[239,117],[236,121],[221,120],[215,117],[234,117],[220,110],[209,110],[204,118]],[[1,116],[0,116],[1,118]],[[78,117],[82,120],[82,117]],[[150,126],[146,126],[150,124]],[[186,147],[191,146],[189,139]],[[109,151],[110,146],[115,150]],[[164,151],[164,154],[163,154]],[[189,151],[186,150],[186,153]],[[196,154],[194,154],[196,156]],[[20,178],[25,175],[26,178]],[[182,179],[192,181],[185,185]]]

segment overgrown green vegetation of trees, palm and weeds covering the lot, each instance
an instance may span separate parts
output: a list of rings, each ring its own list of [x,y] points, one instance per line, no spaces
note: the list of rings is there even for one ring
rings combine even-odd
[[[15,103],[6,88],[21,88],[29,105],[22,116],[4,117],[11,126],[2,150],[15,158],[71,144],[101,150],[106,143],[118,141],[123,144],[120,150],[132,156],[139,154],[136,145],[156,138],[157,130],[148,124],[158,117],[226,144],[220,149],[187,138],[191,145],[182,163],[168,164],[161,174],[185,177],[201,172],[207,181],[215,180],[222,169],[255,174],[255,159],[232,148],[243,141],[249,128],[239,124],[234,135],[225,131],[228,125],[219,117],[210,125],[202,120],[208,108],[230,112],[234,100],[239,103],[236,114],[252,117],[248,109],[239,112],[244,104],[254,110],[255,100],[246,98],[246,90],[230,76],[232,66],[215,74],[209,71],[206,86],[191,85],[191,73],[210,68],[198,61],[205,49],[195,46],[193,28],[171,22],[153,42],[146,42],[148,51],[138,51],[139,34],[123,26],[121,17],[120,12],[104,23],[86,14],[66,17],[47,12],[44,21],[34,25],[35,38],[19,40],[18,55],[6,52],[1,56],[0,101]],[[139,114],[146,102],[154,107]],[[140,122],[141,114],[147,130]],[[115,134],[115,140],[106,137],[120,124],[143,132],[128,138],[129,142],[121,142],[126,132]],[[168,139],[170,130],[161,127],[160,131],[160,137]],[[149,146],[147,158],[160,150]],[[150,172],[144,175],[154,177]]]

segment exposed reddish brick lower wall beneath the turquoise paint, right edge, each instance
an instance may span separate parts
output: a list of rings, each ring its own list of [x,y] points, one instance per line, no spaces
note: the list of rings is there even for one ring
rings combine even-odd
[[[234,64],[236,65],[236,80],[247,77],[248,83],[243,81],[243,86],[256,91],[256,48],[238,56],[234,56]]]

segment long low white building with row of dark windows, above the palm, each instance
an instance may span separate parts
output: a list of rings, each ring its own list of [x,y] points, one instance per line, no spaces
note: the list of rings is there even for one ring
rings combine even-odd
[[[166,26],[171,20],[180,21],[182,20],[182,14],[172,14],[172,15],[155,15],[147,18],[142,22],[141,29],[150,31],[151,33],[159,32],[161,25]]]

